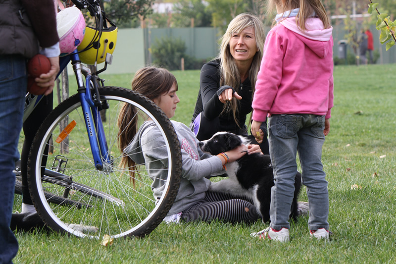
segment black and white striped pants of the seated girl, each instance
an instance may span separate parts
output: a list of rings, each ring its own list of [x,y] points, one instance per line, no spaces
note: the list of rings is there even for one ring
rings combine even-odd
[[[252,223],[258,218],[250,199],[210,191],[206,192],[203,200],[184,210],[181,215],[181,220],[185,222],[218,219],[231,223]]]

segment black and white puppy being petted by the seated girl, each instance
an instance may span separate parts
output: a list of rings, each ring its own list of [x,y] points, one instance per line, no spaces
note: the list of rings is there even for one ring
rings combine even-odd
[[[229,132],[218,132],[208,140],[199,142],[199,148],[211,155],[232,150],[241,144],[249,144],[247,138]],[[274,186],[274,174],[269,155],[253,153],[226,165],[228,179],[212,182],[210,191],[246,196],[253,200],[257,212],[264,222],[269,221],[271,187]],[[290,217],[296,218],[297,197],[301,188],[301,174],[295,177],[295,192]]]

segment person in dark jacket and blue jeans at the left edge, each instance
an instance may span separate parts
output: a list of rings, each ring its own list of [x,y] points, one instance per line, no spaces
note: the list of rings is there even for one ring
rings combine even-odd
[[[27,88],[26,62],[37,53],[49,57],[51,68],[35,81],[52,92],[59,71],[59,38],[52,0],[0,0],[0,263],[12,263],[18,242],[10,230],[15,175],[19,158]],[[40,47],[42,48],[40,50]]]

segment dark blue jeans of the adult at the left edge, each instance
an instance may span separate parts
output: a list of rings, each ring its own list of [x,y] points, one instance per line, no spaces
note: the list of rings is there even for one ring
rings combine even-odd
[[[9,228],[14,202],[15,161],[27,87],[26,59],[0,55],[0,263],[12,263],[18,241]]]

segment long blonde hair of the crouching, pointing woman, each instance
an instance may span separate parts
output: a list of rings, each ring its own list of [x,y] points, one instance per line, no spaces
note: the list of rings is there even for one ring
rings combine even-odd
[[[257,73],[260,69],[261,58],[263,56],[263,48],[265,41],[265,31],[262,21],[255,15],[249,13],[242,13],[231,20],[228,25],[226,33],[224,33],[221,38],[220,53],[216,59],[221,60],[220,64],[220,86],[229,85],[234,88],[235,91],[240,90],[241,84],[241,74],[238,70],[237,63],[234,57],[231,55],[230,51],[230,40],[232,34],[239,34],[246,28],[252,27],[255,32],[256,46],[258,52],[254,54],[253,61],[251,62],[249,69],[249,79],[251,82],[251,87],[254,93],[254,87],[257,79]],[[233,98],[228,101],[223,108],[223,112],[232,111],[234,115],[234,120],[239,127],[244,124],[239,124],[236,113],[237,113],[237,100]],[[223,113],[222,112],[222,113]]]

